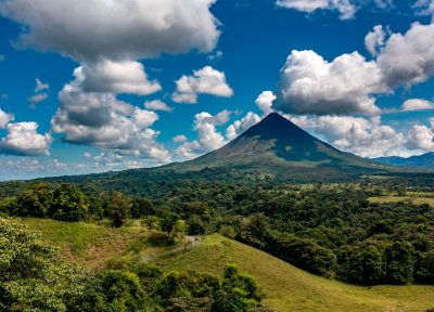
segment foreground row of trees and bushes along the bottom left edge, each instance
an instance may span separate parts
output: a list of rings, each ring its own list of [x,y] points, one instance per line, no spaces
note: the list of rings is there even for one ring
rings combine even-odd
[[[120,260],[90,273],[60,262],[15,221],[0,218],[0,311],[271,311],[255,280],[233,264],[221,277]]]

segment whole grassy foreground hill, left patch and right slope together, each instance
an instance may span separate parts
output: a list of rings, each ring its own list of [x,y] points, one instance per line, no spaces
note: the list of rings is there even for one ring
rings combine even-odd
[[[146,245],[149,232],[132,223],[111,229],[85,222],[21,219],[41,232],[42,238],[60,246],[63,258],[73,263],[99,268],[104,261],[125,255],[161,255],[164,247]],[[167,252],[165,252],[167,253]],[[329,281],[296,269],[268,253],[219,235],[205,237],[193,249],[177,256],[157,257],[165,269],[196,270],[221,274],[226,263],[237,263],[255,276],[277,311],[425,311],[434,307],[434,286],[359,287]]]

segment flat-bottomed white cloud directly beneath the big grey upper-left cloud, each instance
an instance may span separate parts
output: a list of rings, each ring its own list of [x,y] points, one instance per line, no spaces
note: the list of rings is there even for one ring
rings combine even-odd
[[[149,80],[140,62],[108,60],[80,66],[82,89],[86,92],[112,92],[149,95],[162,89],[155,80]]]

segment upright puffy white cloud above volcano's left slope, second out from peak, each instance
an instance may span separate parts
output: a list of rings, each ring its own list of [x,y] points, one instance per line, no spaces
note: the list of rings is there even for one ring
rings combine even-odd
[[[175,151],[175,154],[182,158],[194,158],[224,146],[226,141],[224,135],[216,129],[217,119],[206,112],[196,114],[193,129],[197,132],[197,139],[184,142]]]

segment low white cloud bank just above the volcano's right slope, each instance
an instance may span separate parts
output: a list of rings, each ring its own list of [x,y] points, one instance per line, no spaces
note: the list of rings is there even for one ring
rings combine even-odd
[[[392,127],[372,120],[349,116],[299,116],[290,117],[298,127],[322,136],[339,150],[361,157],[407,155],[403,133]]]

